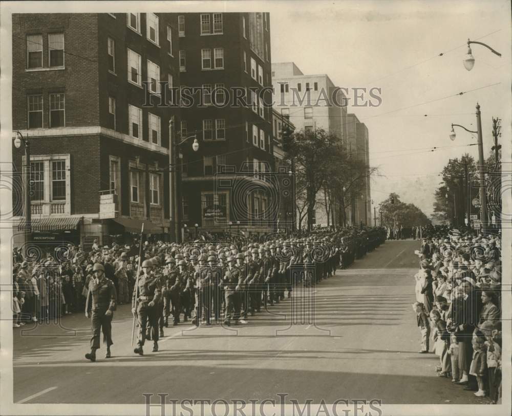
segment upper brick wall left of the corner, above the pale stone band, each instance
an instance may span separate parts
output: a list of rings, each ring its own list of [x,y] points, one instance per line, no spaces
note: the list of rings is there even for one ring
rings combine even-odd
[[[26,129],[27,95],[43,96],[43,127],[49,127],[49,99],[52,92],[65,93],[66,127],[97,126],[98,31],[96,14],[14,14],[13,51],[13,129]],[[48,34],[64,33],[65,69],[48,70]],[[42,34],[42,63],[46,70],[26,71],[27,34]]]

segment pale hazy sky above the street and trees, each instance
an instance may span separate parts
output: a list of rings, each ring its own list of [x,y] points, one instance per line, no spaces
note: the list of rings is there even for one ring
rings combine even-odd
[[[438,175],[449,158],[467,152],[478,160],[478,147],[467,146],[477,143],[476,134],[456,127],[456,140],[449,138],[452,123],[477,130],[477,102],[484,157],[493,145],[492,117],[503,120],[502,137],[510,137],[509,2],[267,5],[272,62],[293,61],[304,74],[328,74],[340,87],[381,88],[379,107],[348,109],[369,130],[370,165],[379,175],[371,182],[375,206],[396,192],[425,214],[433,212],[433,194],[442,180]],[[462,60],[468,38],[489,44],[502,57],[472,45],[475,66],[466,71]],[[509,143],[503,148],[510,154]]]

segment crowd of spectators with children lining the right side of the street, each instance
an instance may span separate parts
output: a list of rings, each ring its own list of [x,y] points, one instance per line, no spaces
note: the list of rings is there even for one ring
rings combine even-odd
[[[500,247],[500,234],[444,226],[425,230],[415,251],[420,353],[434,352],[439,377],[493,404],[501,400]]]

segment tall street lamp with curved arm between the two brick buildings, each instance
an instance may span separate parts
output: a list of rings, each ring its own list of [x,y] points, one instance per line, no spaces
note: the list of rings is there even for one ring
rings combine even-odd
[[[180,185],[181,185],[181,177],[178,178],[180,172],[178,170],[178,147],[185,143],[189,138],[194,137],[194,143],[192,144],[192,150],[197,152],[199,150],[199,142],[197,140],[196,135],[191,135],[183,138],[179,143],[176,143],[175,131],[174,131],[174,115],[169,120],[169,221],[171,226],[173,226],[174,222],[174,234],[176,241],[181,240],[181,230],[180,230],[180,209],[179,209],[179,195],[180,195]],[[173,169],[174,168],[174,169]],[[174,192],[173,192],[174,190]]]

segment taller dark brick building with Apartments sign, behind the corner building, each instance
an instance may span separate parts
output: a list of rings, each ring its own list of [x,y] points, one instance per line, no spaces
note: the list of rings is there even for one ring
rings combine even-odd
[[[179,137],[196,135],[200,144],[198,151],[189,142],[180,148],[182,224],[223,232],[231,222],[246,233],[271,232],[279,191],[268,175],[274,171],[272,109],[265,105],[271,100],[269,14],[174,16],[181,88],[201,103],[181,108]],[[248,105],[234,99],[235,89]]]

